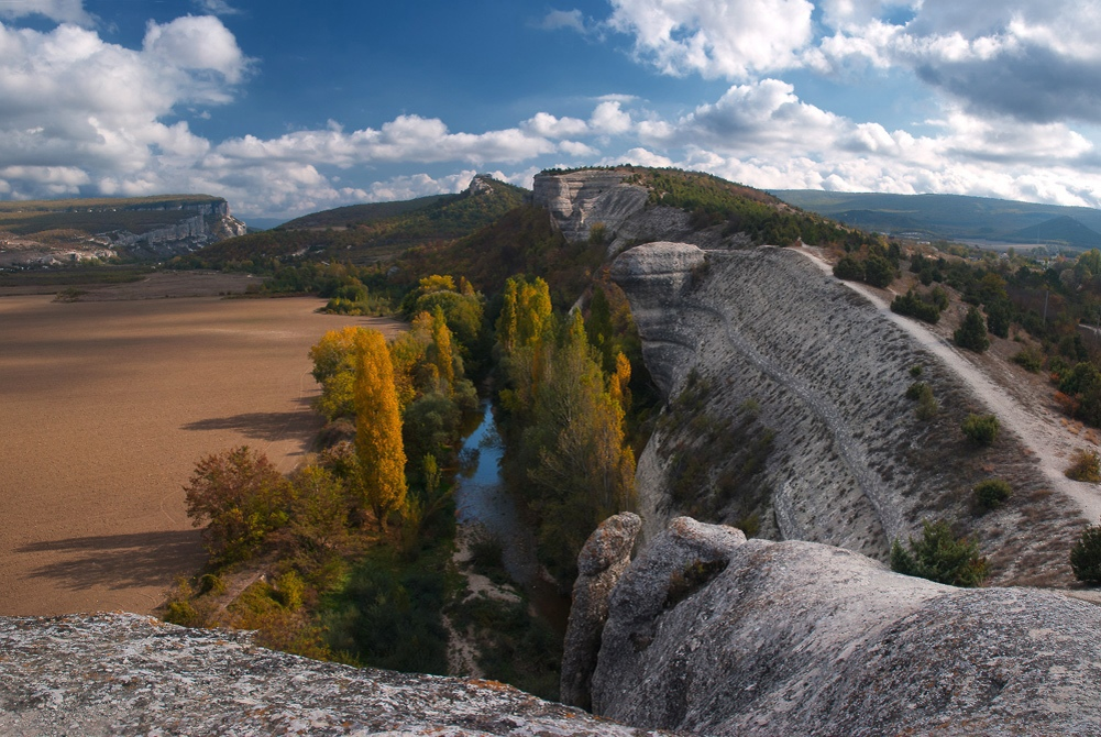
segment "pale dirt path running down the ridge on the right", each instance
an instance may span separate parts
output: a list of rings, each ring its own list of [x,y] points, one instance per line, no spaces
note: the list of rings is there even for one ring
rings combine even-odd
[[[792,249],[804,254],[825,273],[832,275],[832,267],[814,251]],[[1091,523],[1101,518],[1101,490],[1097,485],[1073,481],[1064,475],[1071,454],[1078,448],[1089,448],[1064,427],[1059,418],[1042,404],[1039,398],[1027,404],[1014,398],[983,367],[922,323],[891,312],[891,306],[866,284],[841,281],[842,284],[871,302],[892,323],[912,335],[923,348],[935,355],[962,379],[975,395],[998,415],[1002,425],[1016,434],[1021,442],[1039,459],[1039,468],[1051,488],[1072,499]]]

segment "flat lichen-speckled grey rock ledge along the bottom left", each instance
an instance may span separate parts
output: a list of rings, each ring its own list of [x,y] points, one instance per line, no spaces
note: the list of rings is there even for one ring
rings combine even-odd
[[[0,734],[639,735],[492,681],[355,669],[137,615],[0,618]]]

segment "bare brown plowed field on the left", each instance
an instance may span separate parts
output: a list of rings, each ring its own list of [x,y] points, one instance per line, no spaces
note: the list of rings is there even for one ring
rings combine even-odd
[[[148,613],[201,564],[184,492],[247,444],[291,470],[319,421],[309,346],[400,323],[312,299],[0,299],[0,615]]]

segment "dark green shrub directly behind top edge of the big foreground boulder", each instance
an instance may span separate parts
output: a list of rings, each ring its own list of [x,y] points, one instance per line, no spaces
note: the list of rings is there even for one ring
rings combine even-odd
[[[891,570],[950,586],[978,586],[989,575],[989,563],[979,546],[957,538],[944,520],[922,522],[922,538],[891,545]]]

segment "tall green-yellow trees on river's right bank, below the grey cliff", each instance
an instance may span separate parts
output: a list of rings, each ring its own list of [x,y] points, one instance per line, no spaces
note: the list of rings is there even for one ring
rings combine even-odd
[[[580,312],[557,317],[537,278],[508,281],[497,335],[505,474],[538,517],[541,557],[568,584],[589,533],[634,508],[634,453],[624,433],[631,364],[612,336],[586,329]]]

